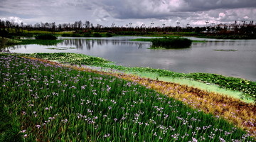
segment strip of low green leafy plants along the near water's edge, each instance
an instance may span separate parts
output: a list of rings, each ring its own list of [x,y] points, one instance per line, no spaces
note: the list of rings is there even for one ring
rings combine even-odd
[[[225,77],[223,75],[215,75],[210,73],[178,73],[170,70],[153,69],[149,67],[123,67],[114,65],[114,62],[107,61],[102,58],[96,58],[88,55],[75,53],[33,53],[24,54],[33,58],[42,58],[47,60],[57,60],[58,62],[70,63],[75,65],[90,65],[101,67],[102,70],[118,70],[134,74],[142,74],[143,72],[154,75],[151,79],[159,77],[182,78],[184,80],[194,80],[203,82],[204,84],[215,84],[223,89],[241,92],[241,98],[256,100],[256,82],[243,80],[235,77]],[[148,75],[147,77],[150,77]],[[188,84],[189,85],[189,84]]]

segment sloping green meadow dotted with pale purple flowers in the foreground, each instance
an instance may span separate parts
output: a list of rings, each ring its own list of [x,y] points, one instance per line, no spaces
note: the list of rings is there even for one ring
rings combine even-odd
[[[1,111],[19,128],[4,129],[3,141],[253,141],[225,120],[135,82],[14,55],[1,54],[0,62]]]

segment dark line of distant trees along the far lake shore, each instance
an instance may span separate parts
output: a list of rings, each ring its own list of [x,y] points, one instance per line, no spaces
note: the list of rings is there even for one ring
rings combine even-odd
[[[236,24],[233,24],[238,26]],[[50,31],[50,32],[58,32],[58,31],[73,31],[74,33],[86,33],[86,32],[107,32],[114,33],[117,35],[144,35],[150,32],[161,32],[161,33],[171,33],[171,32],[187,32],[187,34],[193,35],[197,33],[203,33],[203,31],[208,31],[208,34],[213,33],[221,33],[221,34],[256,34],[256,25],[253,24],[253,21],[250,23],[243,23],[240,28],[235,28],[235,31],[228,31],[227,28],[220,28],[216,26],[208,26],[208,27],[146,27],[146,26],[137,26],[137,27],[117,27],[111,26],[106,27],[97,24],[94,26],[90,21],[75,21],[74,23],[35,23],[35,24],[24,24],[24,23],[14,23],[11,21],[2,21],[0,20],[0,33],[1,36],[6,35],[11,29],[12,33],[16,35],[23,35],[23,31]],[[190,32],[190,33],[189,33]]]

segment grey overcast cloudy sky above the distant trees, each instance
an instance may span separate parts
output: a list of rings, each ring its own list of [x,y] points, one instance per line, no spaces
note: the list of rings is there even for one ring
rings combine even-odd
[[[206,26],[206,21],[256,22],[256,0],[0,0],[0,18],[28,24]]]

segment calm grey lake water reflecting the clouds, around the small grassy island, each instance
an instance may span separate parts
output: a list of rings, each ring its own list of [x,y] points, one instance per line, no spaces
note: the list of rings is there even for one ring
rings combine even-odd
[[[129,41],[142,37],[60,38],[58,45],[16,45],[12,53],[82,53],[128,67],[153,67],[174,72],[209,72],[256,81],[256,40],[210,40],[191,48],[151,50],[149,42]],[[87,40],[90,39],[90,40]]]

